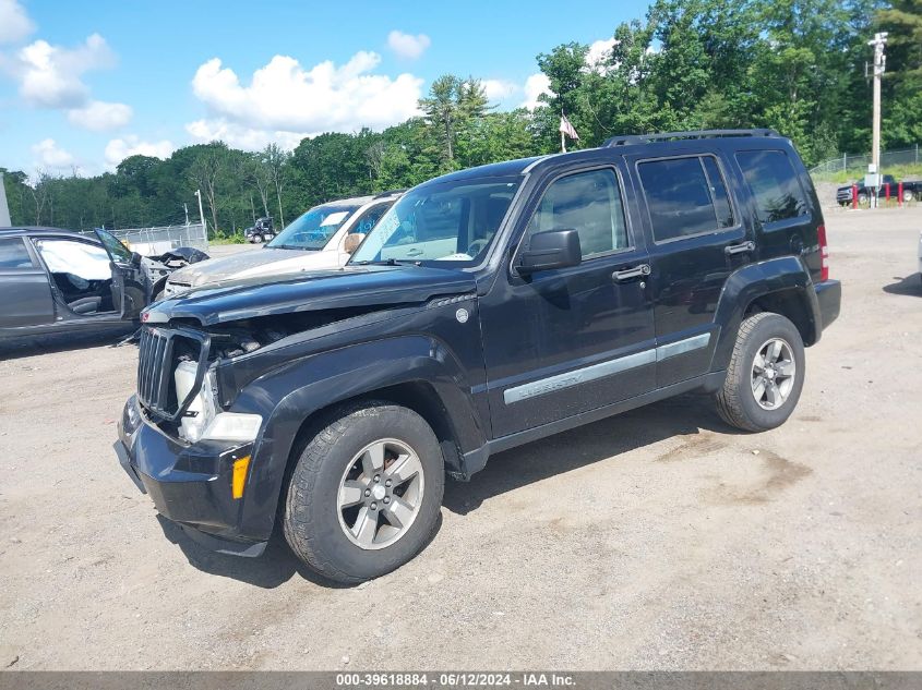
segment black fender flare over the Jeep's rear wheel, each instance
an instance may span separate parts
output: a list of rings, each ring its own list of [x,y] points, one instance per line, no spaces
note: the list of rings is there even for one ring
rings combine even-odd
[[[750,264],[732,273],[720,293],[715,314],[715,323],[720,327],[720,337],[714,351],[711,371],[722,371],[730,365],[737,332],[749,305],[758,298],[782,291],[793,291],[797,294],[806,316],[804,341],[816,342],[823,322],[813,279],[801,258],[780,256]]]

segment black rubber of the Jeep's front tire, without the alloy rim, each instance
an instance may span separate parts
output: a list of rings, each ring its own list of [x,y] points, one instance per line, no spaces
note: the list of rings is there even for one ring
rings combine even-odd
[[[356,455],[382,439],[416,451],[424,480],[407,531],[373,550],[354,543],[340,524],[339,486]],[[356,584],[403,566],[429,542],[439,520],[445,470],[439,439],[412,410],[382,401],[344,408],[301,447],[285,499],[283,532],[295,555],[330,580]]]

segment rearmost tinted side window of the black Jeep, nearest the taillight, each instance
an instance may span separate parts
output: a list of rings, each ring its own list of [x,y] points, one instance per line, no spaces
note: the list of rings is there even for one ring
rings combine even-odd
[[[737,154],[763,223],[806,216],[806,199],[785,152],[746,150]]]

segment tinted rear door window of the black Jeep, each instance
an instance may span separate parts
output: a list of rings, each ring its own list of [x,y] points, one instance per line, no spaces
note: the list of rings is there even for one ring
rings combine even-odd
[[[650,160],[637,170],[657,242],[734,225],[727,185],[713,156]]]

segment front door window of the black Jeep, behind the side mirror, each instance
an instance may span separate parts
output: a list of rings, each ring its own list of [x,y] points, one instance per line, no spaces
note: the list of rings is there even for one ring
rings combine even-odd
[[[576,230],[583,258],[626,249],[624,203],[613,170],[591,170],[553,182],[544,192],[528,234]]]

